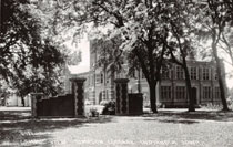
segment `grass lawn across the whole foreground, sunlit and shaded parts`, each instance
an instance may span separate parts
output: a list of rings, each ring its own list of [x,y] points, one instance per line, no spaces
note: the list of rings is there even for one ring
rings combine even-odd
[[[230,147],[233,113],[160,109],[142,116],[32,119],[29,109],[0,109],[0,146]]]

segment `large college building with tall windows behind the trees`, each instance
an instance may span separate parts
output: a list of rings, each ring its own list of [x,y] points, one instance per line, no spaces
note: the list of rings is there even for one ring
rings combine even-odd
[[[90,44],[90,48],[94,46]],[[97,52],[88,51],[88,53],[90,54],[90,61],[88,62],[88,64],[90,64],[90,69],[85,72],[69,73],[69,77],[81,76],[87,78],[84,84],[85,99],[92,104],[100,104],[102,101],[114,99],[114,80],[129,78],[130,82],[128,83],[128,92],[142,93],[143,105],[150,105],[149,86],[141,70],[135,71],[132,76],[126,76],[125,72],[111,74],[102,67],[94,67],[95,64],[99,64],[99,55]],[[126,65],[123,66],[126,67]],[[188,66],[195,104],[220,104],[221,97],[215,62],[189,60]],[[222,66],[222,71],[224,73],[224,66]],[[180,65],[171,63],[169,67],[162,67],[161,76],[162,78],[158,82],[155,87],[156,105],[163,107],[186,107],[189,99],[183,69]],[[69,82],[67,87],[71,90]]]

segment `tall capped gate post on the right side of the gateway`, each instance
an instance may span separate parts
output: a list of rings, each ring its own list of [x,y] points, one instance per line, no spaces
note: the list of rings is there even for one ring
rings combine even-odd
[[[128,78],[116,78],[115,81],[115,114],[129,114]]]

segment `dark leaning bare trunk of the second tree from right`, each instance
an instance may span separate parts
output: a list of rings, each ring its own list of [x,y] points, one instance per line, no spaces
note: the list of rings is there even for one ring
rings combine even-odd
[[[188,98],[189,98],[189,112],[195,112],[195,101],[192,94],[192,85],[191,85],[191,80],[190,80],[190,74],[189,74],[186,63],[184,63],[183,69],[184,69],[186,92],[188,92]]]

